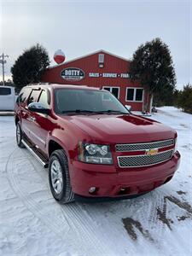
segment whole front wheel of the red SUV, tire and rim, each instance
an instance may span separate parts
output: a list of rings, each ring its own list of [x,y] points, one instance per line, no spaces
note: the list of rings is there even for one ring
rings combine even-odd
[[[49,186],[56,201],[66,204],[74,200],[67,156],[62,149],[55,150],[50,156]]]

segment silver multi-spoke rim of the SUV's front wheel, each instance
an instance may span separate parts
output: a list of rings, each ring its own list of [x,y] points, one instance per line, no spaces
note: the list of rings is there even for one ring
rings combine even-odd
[[[50,178],[55,193],[60,194],[63,188],[63,179],[59,160],[53,160],[50,166]]]

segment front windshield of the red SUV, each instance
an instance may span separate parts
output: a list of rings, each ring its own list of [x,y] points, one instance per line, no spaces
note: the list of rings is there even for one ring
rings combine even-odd
[[[55,89],[55,113],[129,113],[110,92]]]

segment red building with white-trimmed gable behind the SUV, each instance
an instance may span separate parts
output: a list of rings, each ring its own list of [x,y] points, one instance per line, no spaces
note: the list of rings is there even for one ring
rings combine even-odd
[[[78,84],[109,90],[132,110],[143,111],[148,94],[139,82],[129,78],[130,61],[105,50],[49,67],[42,82]],[[149,109],[148,109],[149,110]]]

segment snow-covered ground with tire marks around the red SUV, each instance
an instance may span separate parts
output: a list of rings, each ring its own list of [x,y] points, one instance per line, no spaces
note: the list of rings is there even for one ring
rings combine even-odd
[[[192,115],[159,108],[151,117],[178,133],[172,181],[127,201],[61,206],[48,173],[17,148],[13,117],[0,117],[0,255],[192,255]]]

